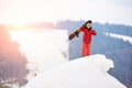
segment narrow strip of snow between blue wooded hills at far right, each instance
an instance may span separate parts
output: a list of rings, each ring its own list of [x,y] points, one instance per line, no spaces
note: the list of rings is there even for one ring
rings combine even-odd
[[[132,44],[132,37],[131,36],[119,35],[119,34],[114,34],[114,33],[106,33],[106,34],[110,35],[111,37],[122,38],[123,41],[128,41]]]

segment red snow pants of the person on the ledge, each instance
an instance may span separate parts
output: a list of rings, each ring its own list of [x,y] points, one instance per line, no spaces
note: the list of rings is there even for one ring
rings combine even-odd
[[[89,43],[82,43],[81,57],[89,56],[89,55],[90,55],[90,44]]]

